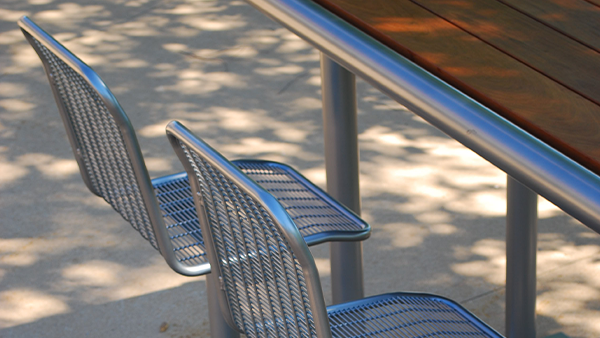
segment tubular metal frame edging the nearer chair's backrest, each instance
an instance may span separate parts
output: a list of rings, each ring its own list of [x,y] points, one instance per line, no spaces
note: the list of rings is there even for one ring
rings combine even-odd
[[[296,227],[296,224],[290,215],[287,213],[286,209],[279,203],[275,196],[270,194],[255,181],[246,176],[219,152],[211,148],[201,139],[197,138],[189,129],[185,128],[179,122],[171,121],[167,125],[167,136],[169,142],[175,150],[175,153],[177,154],[177,157],[179,157],[181,163],[185,167],[188,177],[196,176],[196,173],[192,163],[190,163],[187,157],[188,154],[184,152],[182,146],[185,146],[189,151],[195,153],[194,156],[198,155],[202,161],[205,161],[209,166],[217,168],[220,174],[222,174],[227,180],[230,180],[232,184],[237,186],[239,191],[244,196],[260,202],[261,210],[268,214],[273,220],[272,225],[277,229],[277,233],[283,237],[283,240],[287,243],[287,245],[289,245],[288,249],[290,249],[290,252],[293,253],[294,261],[299,264],[302,269],[303,281],[300,282],[297,280],[296,282],[300,283],[306,290],[306,293],[303,293],[301,298],[307,301],[305,304],[310,304],[310,313],[312,313],[312,321],[314,324],[314,331],[312,331],[312,333],[316,334],[317,337],[331,337],[331,329],[329,327],[329,319],[327,317],[325,300],[323,299],[323,290],[321,288],[321,281],[319,279],[317,266],[308,249],[306,241],[300,234],[300,231]],[[202,188],[200,187],[199,180],[190,180],[190,186],[192,188],[192,194],[194,195],[194,204],[196,205],[196,209],[205,209],[205,204],[209,202],[203,200],[202,198],[202,194],[200,193]],[[230,301],[228,300],[229,297],[226,295],[224,286],[221,287],[221,284],[225,281],[220,281],[221,277],[223,277],[223,273],[219,259],[225,259],[227,257],[219,258],[217,256],[214,236],[211,234],[212,226],[209,225],[207,212],[204,210],[200,212],[200,214],[203,215],[203,217],[199,217],[200,227],[202,228],[203,233],[206,234],[204,237],[204,243],[206,244],[206,250],[209,253],[208,258],[212,268],[212,272],[207,277],[207,285],[209,286],[210,292],[209,297],[213,297],[209,298],[209,302],[214,304],[216,298],[216,303],[218,303],[221,308],[219,313],[221,313],[221,317],[223,317],[214,317],[216,320],[219,320],[219,322],[213,322],[213,317],[211,317],[211,337],[221,338],[225,337],[223,334],[231,334],[231,331],[227,331],[227,328],[224,327],[224,325],[221,325],[223,324],[220,322],[221,320],[228,322],[231,327],[238,326],[237,329],[240,330],[245,330],[245,328],[239,327],[239,325],[235,324],[233,313],[231,312],[232,310],[230,307]],[[287,277],[289,276],[286,275],[285,278]],[[272,301],[275,300],[272,299]],[[239,305],[243,306],[243,304]],[[250,309],[242,309],[241,311],[250,311]],[[219,325],[219,327],[212,327],[213,324]],[[265,325],[265,327],[266,326],[267,325]],[[215,331],[212,331],[213,329]],[[227,332],[215,335],[215,332],[221,329]],[[258,335],[261,337],[264,336],[261,334]],[[268,335],[271,336],[270,334]],[[311,334],[311,336],[313,335]]]

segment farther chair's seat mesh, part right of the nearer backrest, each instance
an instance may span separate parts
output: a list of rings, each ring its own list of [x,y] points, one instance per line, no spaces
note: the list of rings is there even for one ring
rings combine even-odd
[[[362,232],[367,227],[317,195],[316,188],[299,180],[287,166],[257,161],[235,161],[235,165],[277,198],[304,237],[326,231]]]

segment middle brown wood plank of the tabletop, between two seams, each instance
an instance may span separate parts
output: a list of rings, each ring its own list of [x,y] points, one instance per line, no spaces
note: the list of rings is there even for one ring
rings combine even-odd
[[[595,50],[496,0],[413,2],[600,104]]]

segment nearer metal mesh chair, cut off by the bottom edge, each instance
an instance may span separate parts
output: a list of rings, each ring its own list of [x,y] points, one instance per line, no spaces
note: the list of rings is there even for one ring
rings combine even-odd
[[[176,121],[167,135],[191,180],[219,303],[248,337],[501,337],[457,303],[392,293],[325,308],[318,272],[285,207]]]

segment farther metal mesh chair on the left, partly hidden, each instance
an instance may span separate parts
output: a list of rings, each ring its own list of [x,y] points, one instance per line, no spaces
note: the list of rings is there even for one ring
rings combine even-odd
[[[39,55],[81,176],[158,249],[176,272],[210,272],[188,183],[178,173],[150,180],[127,115],[100,77],[27,17],[19,26]],[[368,238],[369,226],[292,168],[236,161],[278,196],[310,244]]]

